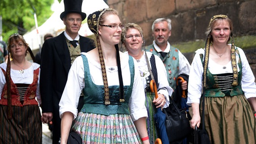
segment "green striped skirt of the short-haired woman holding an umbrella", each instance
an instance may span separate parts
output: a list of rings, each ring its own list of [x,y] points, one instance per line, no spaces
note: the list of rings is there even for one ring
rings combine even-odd
[[[150,144],[155,143],[155,139],[157,139],[157,129],[156,129],[156,121],[154,119],[154,115],[156,112],[155,104],[152,103],[155,97],[154,93],[146,92],[146,100],[145,106],[147,110],[148,117],[146,118],[146,129],[149,137]]]

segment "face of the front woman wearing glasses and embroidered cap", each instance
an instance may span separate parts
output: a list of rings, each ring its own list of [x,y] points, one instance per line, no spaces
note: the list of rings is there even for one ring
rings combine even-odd
[[[99,26],[99,35],[104,43],[115,45],[120,42],[122,29],[119,27],[121,21],[116,14],[106,15],[103,22]],[[102,25],[116,25],[118,27],[105,27]]]

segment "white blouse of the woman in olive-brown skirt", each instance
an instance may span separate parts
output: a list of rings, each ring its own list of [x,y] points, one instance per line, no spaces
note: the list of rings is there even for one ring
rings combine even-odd
[[[242,91],[244,92],[245,97],[247,99],[251,97],[256,97],[255,77],[251,71],[251,67],[247,61],[246,55],[244,54],[243,50],[239,47],[236,48],[239,50],[239,54],[242,61]],[[192,68],[190,69],[188,80],[187,105],[191,105],[191,103],[200,103],[202,91],[203,66],[199,54],[205,54],[205,50],[198,49],[191,64]],[[238,60],[239,56],[238,54],[236,54],[237,63]],[[226,65],[219,65],[209,58],[208,68],[212,74],[233,73],[231,61]],[[240,72],[239,67],[238,72]]]

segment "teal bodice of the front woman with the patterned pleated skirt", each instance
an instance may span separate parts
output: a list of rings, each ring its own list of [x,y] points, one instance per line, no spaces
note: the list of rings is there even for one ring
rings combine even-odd
[[[129,67],[131,73],[130,85],[124,85],[124,102],[119,102],[119,85],[109,86],[110,105],[105,105],[104,86],[95,85],[91,80],[91,74],[87,57],[82,55],[84,64],[84,81],[85,87],[83,89],[83,107],[82,112],[97,113],[103,115],[110,114],[130,114],[128,108],[128,102],[133,90],[133,79],[134,79],[134,63],[133,58],[129,56]],[[118,74],[117,74],[118,76]],[[110,80],[109,80],[110,81]]]

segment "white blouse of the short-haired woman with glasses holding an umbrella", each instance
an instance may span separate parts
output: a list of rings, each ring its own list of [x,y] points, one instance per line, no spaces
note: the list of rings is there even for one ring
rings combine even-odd
[[[128,52],[124,52],[125,54],[128,54]],[[146,52],[149,65],[151,67],[150,63],[150,58],[152,53],[151,52]],[[165,69],[165,65],[162,62],[161,58],[159,58],[157,55],[155,55],[155,65],[156,65],[156,70],[157,70],[157,79],[158,79],[158,94],[163,94],[165,95],[165,105],[164,108],[167,108],[169,106],[169,95],[171,96],[173,93],[173,89],[169,86],[168,80],[167,80],[167,73]],[[144,89],[146,88],[146,77],[150,75],[150,72],[147,67],[146,63],[146,55],[145,51],[143,51],[143,55],[140,59],[137,60],[137,66],[139,67],[139,71],[141,74],[141,79],[144,85]]]

